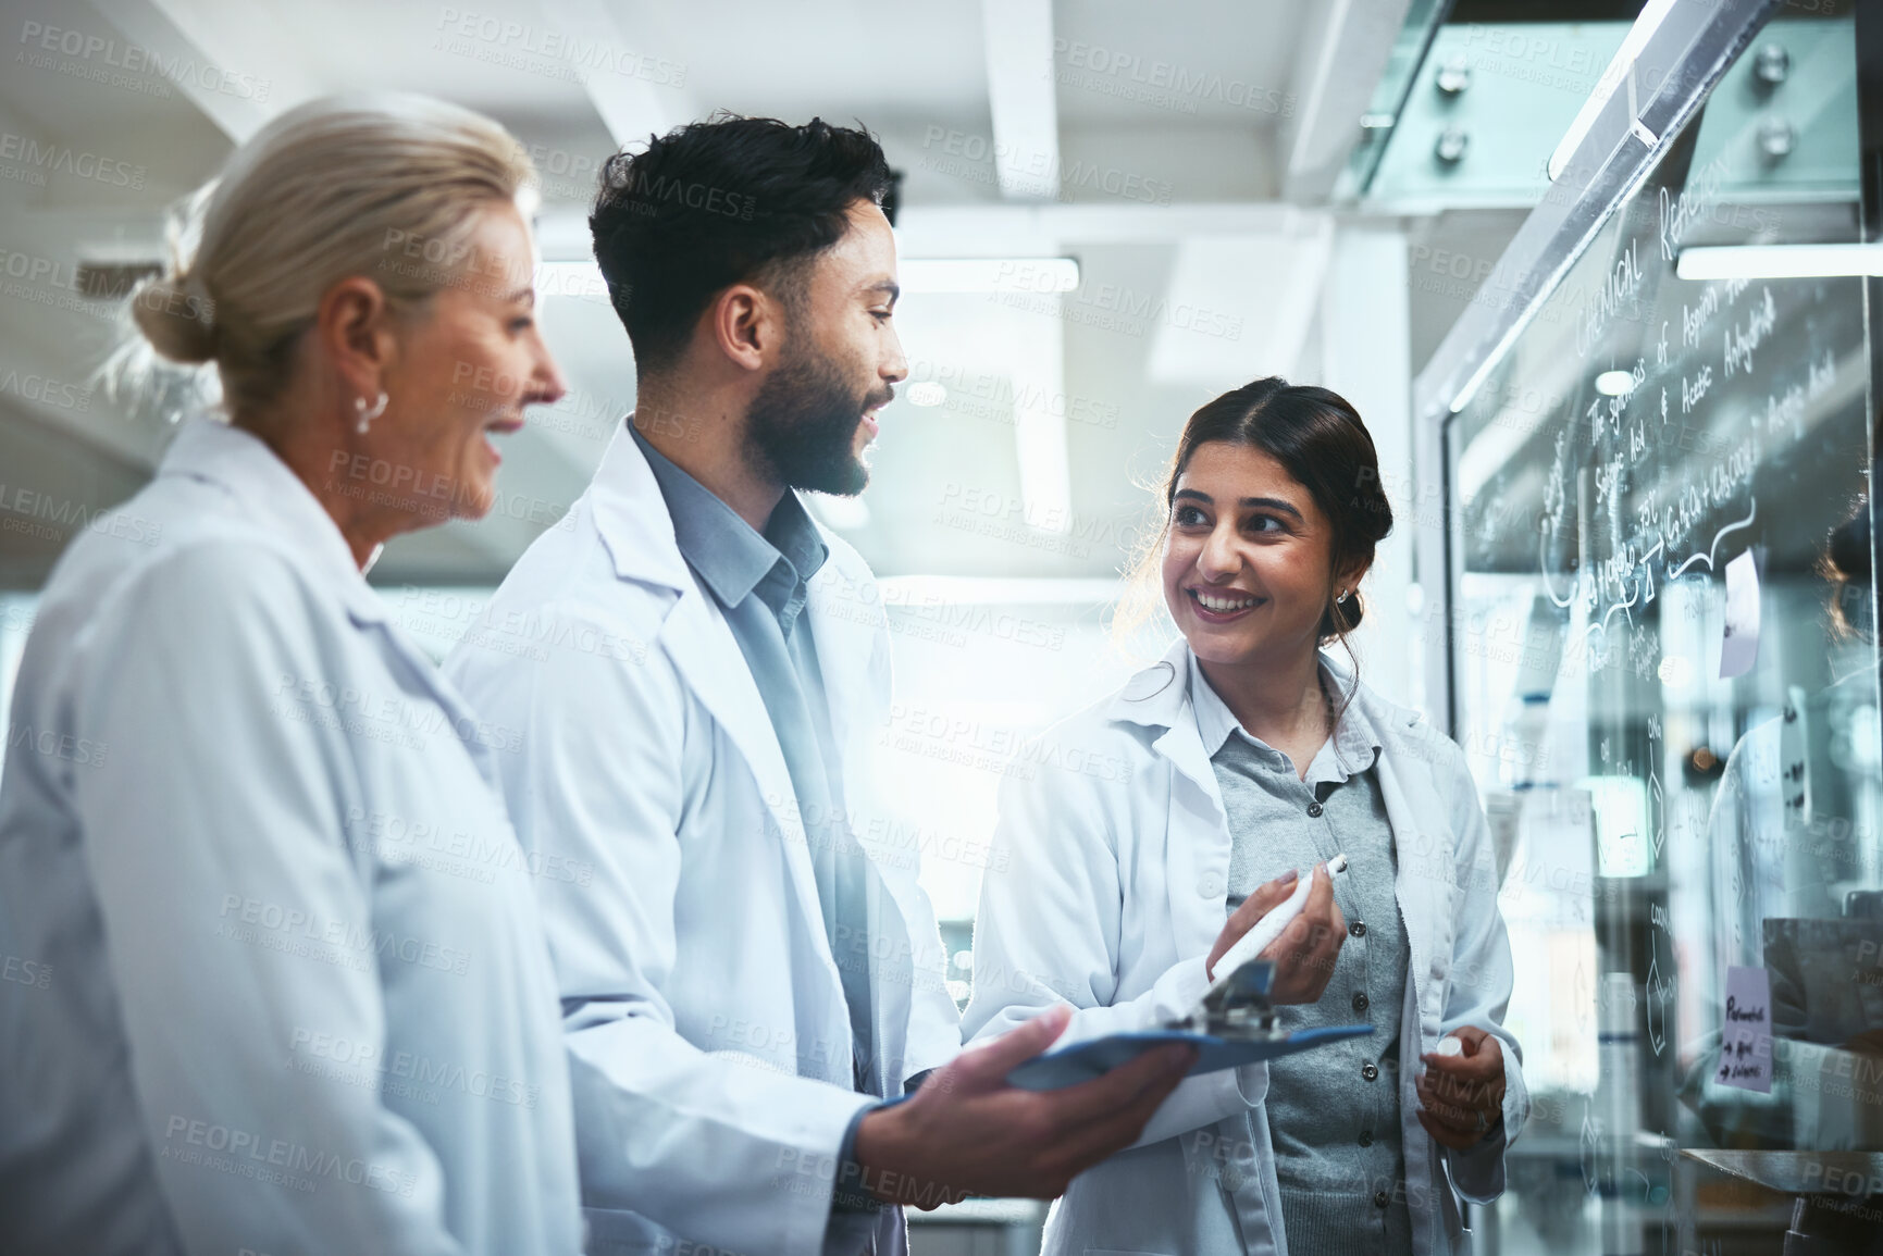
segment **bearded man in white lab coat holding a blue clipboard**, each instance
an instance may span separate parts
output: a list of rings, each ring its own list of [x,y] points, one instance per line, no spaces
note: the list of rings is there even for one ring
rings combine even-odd
[[[1064,1009],[962,1055],[887,840],[887,620],[797,493],[862,491],[908,375],[891,183],[821,121],[716,117],[606,164],[589,226],[636,409],[446,663],[514,733],[591,1252],[900,1252],[898,1205],[1056,1196],[1192,1060],[1007,1087]]]

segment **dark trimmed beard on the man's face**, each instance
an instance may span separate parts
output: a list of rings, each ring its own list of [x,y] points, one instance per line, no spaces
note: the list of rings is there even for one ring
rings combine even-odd
[[[787,488],[855,497],[870,482],[870,469],[855,452],[857,426],[864,411],[894,395],[887,384],[859,395],[836,363],[806,346],[759,384],[746,411],[746,439],[761,469]]]

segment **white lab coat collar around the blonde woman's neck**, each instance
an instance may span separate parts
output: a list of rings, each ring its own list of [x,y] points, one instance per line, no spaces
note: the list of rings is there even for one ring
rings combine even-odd
[[[354,563],[339,523],[260,437],[215,418],[188,418],[164,452],[158,476],[215,484],[243,516],[288,546],[335,591],[356,623],[382,623],[386,604]]]

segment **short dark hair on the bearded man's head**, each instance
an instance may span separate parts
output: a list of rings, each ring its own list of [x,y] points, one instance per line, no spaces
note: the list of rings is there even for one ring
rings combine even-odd
[[[714,294],[753,282],[797,311],[806,264],[893,177],[866,130],[716,113],[618,153],[589,215],[595,262],[646,375],[680,360]]]

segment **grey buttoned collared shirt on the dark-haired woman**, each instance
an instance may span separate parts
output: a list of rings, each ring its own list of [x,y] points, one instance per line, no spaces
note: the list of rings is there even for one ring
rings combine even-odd
[[[1339,682],[1322,663],[1329,693]],[[1348,936],[1320,1002],[1279,1009],[1290,1030],[1371,1023],[1371,1038],[1269,1062],[1267,1115],[1282,1226],[1296,1256],[1412,1250],[1399,1134],[1407,936],[1380,795],[1382,740],[1358,702],[1307,766],[1245,731],[1190,655],[1190,702],[1230,819],[1230,900],[1344,853],[1335,902]]]

